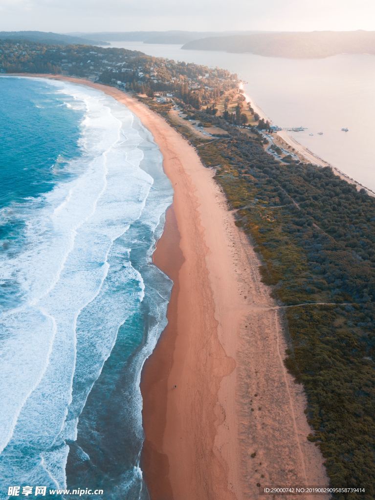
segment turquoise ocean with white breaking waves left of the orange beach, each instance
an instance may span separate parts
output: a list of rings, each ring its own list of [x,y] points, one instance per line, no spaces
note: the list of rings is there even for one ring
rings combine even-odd
[[[0,498],[146,499],[140,373],[172,286],[152,264],[162,155],[96,89],[1,77],[0,110]]]

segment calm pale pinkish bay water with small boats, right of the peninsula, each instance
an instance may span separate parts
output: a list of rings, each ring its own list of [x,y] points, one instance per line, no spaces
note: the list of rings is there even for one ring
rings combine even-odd
[[[304,132],[290,133],[312,152],[375,190],[375,56],[282,59],[182,50],[180,45],[113,42],[113,46],[237,73],[247,81],[246,93],[274,124],[308,127]],[[349,131],[341,131],[342,127]]]

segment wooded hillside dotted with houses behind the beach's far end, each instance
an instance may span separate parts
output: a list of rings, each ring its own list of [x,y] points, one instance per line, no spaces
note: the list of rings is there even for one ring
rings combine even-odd
[[[136,50],[0,40],[0,72],[57,73],[148,95],[171,92],[196,108],[238,87],[225,69],[152,57]]]

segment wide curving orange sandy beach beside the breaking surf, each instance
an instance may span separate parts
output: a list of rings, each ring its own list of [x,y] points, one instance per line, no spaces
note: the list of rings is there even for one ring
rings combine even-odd
[[[302,387],[284,367],[282,309],[260,281],[258,256],[214,172],[135,98],[58,78],[98,88],[139,116],[174,187],[154,254],[174,281],[169,323],[141,382],[151,499],[243,500],[257,498],[259,484],[327,485],[319,449],[307,441]]]

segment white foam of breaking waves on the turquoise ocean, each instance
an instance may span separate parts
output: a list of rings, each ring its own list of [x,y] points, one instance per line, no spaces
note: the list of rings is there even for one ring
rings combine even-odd
[[[114,242],[142,217],[148,201],[152,213],[145,223],[156,229],[170,196],[150,204],[153,178],[140,168],[142,137],[129,110],[93,89],[49,84],[73,96],[77,108],[85,105],[83,151],[67,166],[72,180],[23,208],[25,246],[0,271],[0,280],[18,281],[24,297],[2,318],[0,390],[7,404],[0,412],[0,449],[27,443],[39,450],[34,477],[48,471],[63,486],[65,440],[75,439],[80,411],[118,329],[144,297],[129,247]],[[76,395],[74,377],[86,382]],[[136,410],[140,416],[139,402]]]

